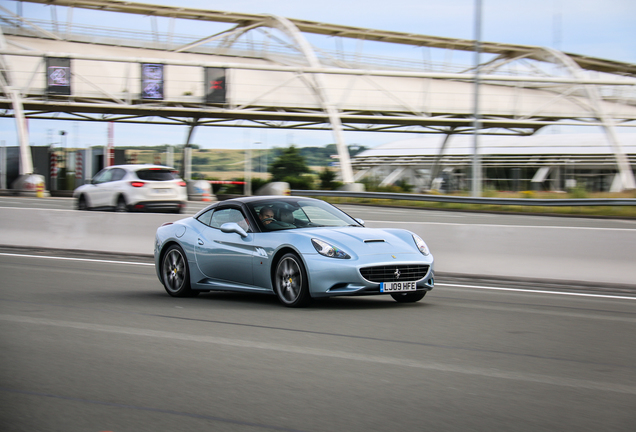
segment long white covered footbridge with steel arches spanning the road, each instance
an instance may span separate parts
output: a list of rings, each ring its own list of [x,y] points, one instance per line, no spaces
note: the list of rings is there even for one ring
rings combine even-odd
[[[0,6],[0,116],[187,125],[190,132],[197,126],[331,129],[345,183],[353,174],[343,131],[452,136],[478,127],[531,135],[555,124],[601,126],[623,187],[635,187],[614,133],[615,126],[636,127],[633,64],[486,42],[476,68],[461,61],[475,50],[469,40],[112,0],[31,2],[51,5],[51,19]],[[74,8],[146,15],[155,24],[139,31],[73,23]],[[57,19],[58,9],[66,11],[65,21]],[[211,31],[162,33],[161,19],[205,21]],[[327,49],[314,42],[317,36],[355,41],[356,48],[336,42],[338,49]],[[392,45],[427,54],[397,58],[378,49]],[[435,60],[448,51],[460,60]]]

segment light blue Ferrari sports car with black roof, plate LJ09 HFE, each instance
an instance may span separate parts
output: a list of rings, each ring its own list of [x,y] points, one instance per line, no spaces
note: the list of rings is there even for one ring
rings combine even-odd
[[[365,228],[324,201],[288,196],[221,201],[157,229],[155,267],[174,297],[212,290],[312,298],[389,294],[416,302],[433,289],[433,256],[416,234]]]

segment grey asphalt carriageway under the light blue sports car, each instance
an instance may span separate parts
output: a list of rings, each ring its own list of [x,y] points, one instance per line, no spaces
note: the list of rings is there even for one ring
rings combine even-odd
[[[295,310],[27,252],[0,252],[5,432],[636,430],[634,295],[442,283]]]

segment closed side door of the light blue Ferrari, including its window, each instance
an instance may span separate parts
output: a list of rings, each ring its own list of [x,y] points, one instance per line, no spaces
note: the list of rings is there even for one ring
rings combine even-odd
[[[236,207],[213,211],[210,226],[199,233],[195,245],[197,265],[205,276],[217,281],[253,284],[254,234],[249,225],[244,225],[245,220],[243,212]],[[222,232],[221,225],[228,222],[246,227],[247,237]]]

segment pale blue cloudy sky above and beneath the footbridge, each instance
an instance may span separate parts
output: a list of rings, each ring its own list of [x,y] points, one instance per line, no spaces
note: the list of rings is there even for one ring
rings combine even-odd
[[[269,13],[289,18],[321,21],[356,27],[418,33],[433,36],[473,39],[475,35],[475,0],[152,0],[142,3],[162,4],[231,12]],[[565,52],[636,63],[635,0],[483,0],[482,40],[490,42],[549,46]],[[0,5],[16,11],[16,2],[0,0]],[[50,18],[50,8],[23,3],[25,17]],[[97,15],[96,15],[97,14]],[[76,9],[73,22],[95,22],[123,27],[134,23],[150,29],[147,17],[130,21],[110,20],[110,14]],[[106,19],[104,19],[106,18]],[[66,19],[66,10],[58,8],[58,19]],[[168,21],[159,22],[160,31],[168,30]],[[176,33],[208,35],[200,25],[178,24]],[[29,123],[34,145],[44,145],[47,134],[69,132],[69,145],[89,141],[106,143],[105,124],[34,120]],[[627,129],[627,128],[625,128]],[[634,129],[634,128],[632,128]],[[181,144],[186,129],[177,126],[115,125],[115,145]],[[580,132],[580,131],[579,131]],[[594,131],[597,132],[597,131]],[[600,131],[599,131],[600,132]],[[627,131],[628,132],[628,131]],[[0,133],[6,145],[17,144],[12,119],[0,119]],[[351,133],[349,144],[375,146],[415,134]],[[291,130],[248,130],[199,128],[193,142],[204,147],[239,148],[245,143],[261,141],[268,146],[324,145],[333,142],[330,132]]]

